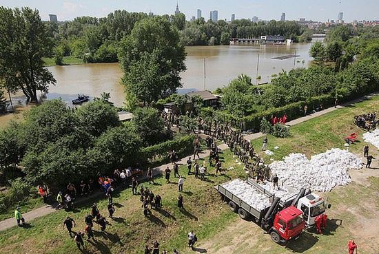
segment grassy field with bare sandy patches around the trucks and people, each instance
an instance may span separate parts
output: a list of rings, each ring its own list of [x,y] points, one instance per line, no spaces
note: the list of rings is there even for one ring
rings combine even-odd
[[[280,159],[291,152],[301,152],[307,156],[318,154],[332,147],[343,147],[343,138],[351,132],[360,135],[362,131],[352,123],[355,114],[371,112],[379,108],[379,96],[345,109],[339,109],[320,118],[291,127],[292,136],[285,139],[269,136],[269,149],[274,151],[274,158]],[[254,146],[260,148],[262,139],[254,140]],[[273,149],[278,145],[278,150]],[[352,145],[350,151],[361,153],[363,142]],[[372,150],[373,147],[371,147]],[[374,154],[378,155],[376,151]],[[163,211],[152,211],[148,218],[143,217],[139,196],[131,195],[126,189],[116,194],[114,220],[110,220],[108,233],[97,231],[97,242],[85,242],[83,253],[143,253],[143,246],[154,240],[161,242],[161,249],[178,248],[181,253],[194,253],[185,246],[186,235],[190,230],[196,231],[200,240],[198,253],[344,253],[347,240],[355,237],[360,246],[360,253],[375,254],[379,249],[376,231],[379,202],[379,178],[360,176],[360,182],[347,187],[338,187],[325,193],[331,199],[332,207],[328,211],[330,223],[325,235],[305,233],[296,242],[286,246],[274,244],[269,236],[254,222],[245,222],[232,213],[221,202],[214,191],[214,185],[236,177],[243,177],[244,172],[237,165],[229,151],[223,154],[223,167],[234,167],[223,176],[213,176],[214,168],[209,170],[207,181],[201,182],[194,176],[187,176],[185,168],[180,167],[185,176],[184,205],[185,211],[176,207],[178,196],[176,180],[166,184],[162,178],[156,184],[148,186],[163,198]],[[265,158],[269,161],[269,158]],[[375,162],[377,163],[377,162]],[[376,165],[376,164],[375,164]],[[366,171],[362,171],[365,173]],[[361,173],[361,172],[358,172]],[[356,173],[356,174],[358,174]],[[358,175],[356,176],[358,178]],[[353,178],[354,179],[354,178]],[[90,200],[74,212],[57,211],[43,218],[33,220],[28,229],[14,227],[1,232],[1,253],[80,253],[68,235],[62,229],[63,219],[70,215],[76,220],[75,231],[83,231],[84,217],[89,213]],[[98,202],[101,213],[105,210],[106,200]],[[339,225],[340,220],[342,224]]]

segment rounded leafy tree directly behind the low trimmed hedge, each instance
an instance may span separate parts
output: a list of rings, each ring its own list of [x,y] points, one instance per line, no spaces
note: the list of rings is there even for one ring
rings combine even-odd
[[[132,126],[145,145],[154,145],[165,139],[163,119],[156,109],[144,107],[133,112]]]

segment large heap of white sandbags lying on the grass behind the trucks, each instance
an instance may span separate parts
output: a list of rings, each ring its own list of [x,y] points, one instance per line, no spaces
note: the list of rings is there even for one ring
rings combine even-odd
[[[289,154],[283,161],[269,165],[280,182],[294,189],[309,188],[312,191],[331,191],[338,185],[351,182],[347,169],[361,169],[362,160],[349,151],[331,149],[312,156]]]

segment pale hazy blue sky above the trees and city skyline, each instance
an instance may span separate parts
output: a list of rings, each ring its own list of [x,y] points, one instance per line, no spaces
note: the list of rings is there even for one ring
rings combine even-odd
[[[230,20],[232,13],[236,19],[280,19],[282,12],[286,19],[299,18],[314,21],[336,20],[338,12],[344,12],[347,22],[354,19],[379,20],[379,0],[179,0],[179,9],[187,19],[196,16],[201,9],[203,17],[209,19],[210,10],[218,10],[218,19]],[[104,17],[113,10],[130,12],[154,12],[172,14],[176,0],[0,0],[1,6],[37,8],[43,20],[48,14],[57,14],[60,21],[77,16]]]

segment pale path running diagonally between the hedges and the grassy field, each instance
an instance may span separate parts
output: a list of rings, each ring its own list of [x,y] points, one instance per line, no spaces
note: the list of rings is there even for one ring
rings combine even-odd
[[[291,121],[289,121],[287,123],[287,125],[292,126],[292,125],[296,125],[298,123],[303,123],[303,122],[305,122],[305,121],[307,121],[307,120],[309,120],[311,118],[316,118],[318,116],[322,116],[322,115],[327,114],[329,112],[333,112],[334,110],[346,107],[347,105],[358,103],[358,102],[360,102],[362,100],[367,100],[368,98],[371,98],[372,96],[376,96],[376,95],[378,95],[378,93],[369,94],[367,96],[363,96],[362,98],[358,98],[356,100],[352,100],[349,103],[345,103],[343,105],[339,105],[336,108],[335,107],[330,107],[330,108],[324,109],[324,110],[322,110],[320,112],[316,112],[316,113],[310,114],[308,116],[303,116],[301,118],[298,118],[298,119],[295,119],[295,120],[291,120]],[[247,140],[253,140],[253,139],[256,139],[256,138],[260,138],[261,136],[263,136],[262,133],[256,133],[256,134],[247,135],[247,136],[245,136],[245,138]],[[219,145],[218,148],[221,149],[221,150],[225,150],[228,147],[227,147],[227,145],[223,144],[223,145]],[[201,158],[205,158],[208,155],[209,155],[209,151],[203,151],[200,154]],[[187,161],[187,157],[186,158],[182,158],[181,160],[178,161],[178,163],[185,164],[186,161]],[[165,164],[165,165],[161,165],[160,167],[154,168],[154,175],[158,175],[161,172],[163,172],[167,166],[168,167],[172,167],[171,164]],[[85,201],[85,199],[83,199],[82,202],[83,201]],[[41,216],[48,215],[50,213],[53,213],[54,211],[56,211],[56,210],[53,207],[51,207],[51,206],[44,206],[44,207],[40,207],[39,209],[35,209],[33,211],[30,211],[28,213],[24,213],[23,217],[25,218],[25,220],[27,220],[28,222],[30,222],[31,220],[34,220],[35,218],[39,218]],[[15,223],[14,218],[9,218],[7,220],[3,220],[3,221],[0,222],[0,231],[4,231],[6,229],[9,229],[10,227],[15,226],[15,225],[16,225],[16,223]]]

